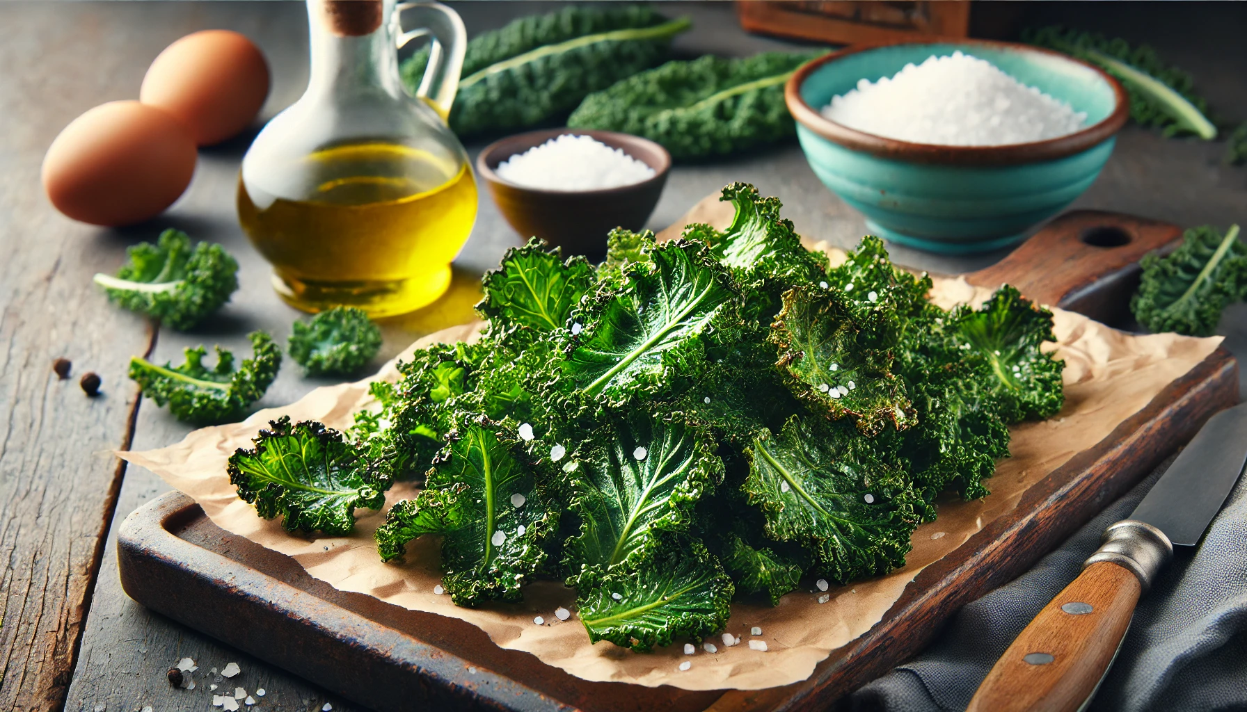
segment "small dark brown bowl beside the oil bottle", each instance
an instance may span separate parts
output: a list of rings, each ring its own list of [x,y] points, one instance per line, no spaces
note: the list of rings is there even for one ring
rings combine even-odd
[[[549,191],[526,188],[498,177],[494,168],[516,153],[534,146],[571,133],[592,136],[612,148],[621,148],[628,156],[653,168],[653,177],[597,191]],[[476,156],[476,175],[489,185],[494,203],[506,222],[524,237],[536,236],[550,244],[562,247],[565,253],[584,254],[600,259],[606,254],[606,234],[616,228],[638,231],[650,219],[658,203],[662,186],[671,171],[671,153],[666,148],[640,136],[577,128],[549,128],[516,133],[495,141]]]

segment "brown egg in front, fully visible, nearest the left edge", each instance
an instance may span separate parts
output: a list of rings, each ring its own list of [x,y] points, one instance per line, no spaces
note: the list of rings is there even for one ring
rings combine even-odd
[[[75,118],[44,156],[56,209],[92,224],[145,221],[173,204],[195,175],[195,140],[181,121],[137,101]]]

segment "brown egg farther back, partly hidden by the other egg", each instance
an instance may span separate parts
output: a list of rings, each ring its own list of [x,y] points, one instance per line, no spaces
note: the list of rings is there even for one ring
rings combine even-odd
[[[165,47],[147,69],[138,100],[181,118],[196,143],[237,135],[268,96],[268,62],[251,40],[229,30],[193,32]]]

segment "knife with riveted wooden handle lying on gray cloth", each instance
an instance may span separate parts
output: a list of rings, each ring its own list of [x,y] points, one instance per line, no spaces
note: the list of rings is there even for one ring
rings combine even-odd
[[[1014,640],[966,712],[1075,712],[1112,665],[1139,597],[1195,546],[1247,463],[1247,403],[1213,415],[1129,519],[1104,531],[1082,572]]]

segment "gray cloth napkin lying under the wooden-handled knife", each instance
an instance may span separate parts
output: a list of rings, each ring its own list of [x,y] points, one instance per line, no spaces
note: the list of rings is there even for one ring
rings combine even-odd
[[[914,660],[837,706],[854,712],[965,710],[996,658],[1125,519],[1172,458],[1018,580],[966,605]],[[1247,710],[1247,480],[1196,549],[1180,547],[1140,601],[1090,710]]]

